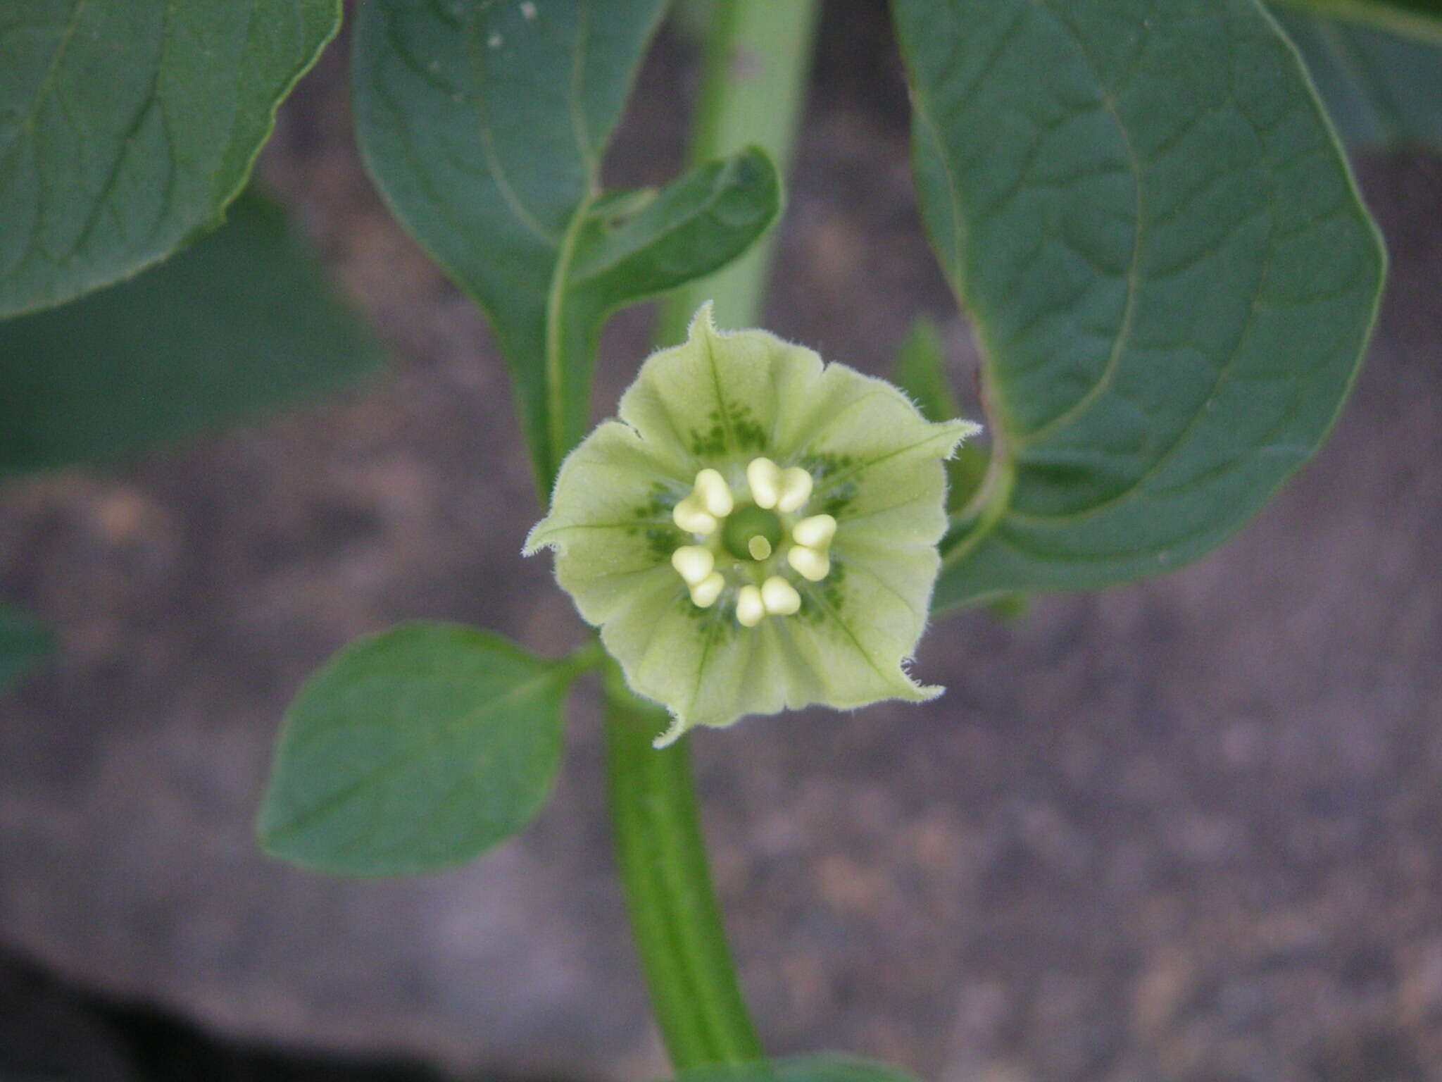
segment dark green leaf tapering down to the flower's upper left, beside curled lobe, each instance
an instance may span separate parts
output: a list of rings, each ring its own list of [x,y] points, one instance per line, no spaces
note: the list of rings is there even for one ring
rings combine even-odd
[[[588,397],[561,340],[561,284],[663,10],[663,0],[375,0],[356,20],[366,164],[397,216],[486,310],[547,491],[571,440],[564,414],[584,414]]]

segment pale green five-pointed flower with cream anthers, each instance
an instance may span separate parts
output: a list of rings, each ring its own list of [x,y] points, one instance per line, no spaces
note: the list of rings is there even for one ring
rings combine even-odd
[[[946,529],[933,424],[897,388],[704,306],[652,355],[620,420],[561,466],[526,554],[601,629],[632,690],[694,726],[820,703],[924,701],[906,665]]]

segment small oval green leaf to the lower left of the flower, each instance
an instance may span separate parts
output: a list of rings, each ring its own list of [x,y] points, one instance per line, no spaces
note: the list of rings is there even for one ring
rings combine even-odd
[[[470,860],[545,802],[575,671],[451,623],[350,643],[286,714],[261,845],[346,876]]]

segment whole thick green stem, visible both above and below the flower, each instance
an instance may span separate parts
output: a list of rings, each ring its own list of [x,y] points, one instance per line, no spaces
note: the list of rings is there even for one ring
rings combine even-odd
[[[809,74],[816,0],[718,0],[691,146],[692,163],[748,143],[770,151],[782,175],[792,159]],[[663,307],[656,343],[679,342],[701,302],[751,326],[761,307],[771,245],[679,290]],[[689,740],[665,750],[665,711],[606,668],[606,746],[616,863],[652,1007],[676,1070],[764,1056],[741,995],[711,886],[691,778]]]

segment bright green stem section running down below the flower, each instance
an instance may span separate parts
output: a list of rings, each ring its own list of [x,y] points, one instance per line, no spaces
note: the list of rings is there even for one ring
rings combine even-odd
[[[616,863],[656,1024],[676,1070],[761,1059],[711,886],[689,742],[656,750],[666,711],[606,667]]]

